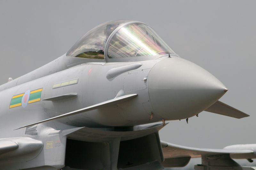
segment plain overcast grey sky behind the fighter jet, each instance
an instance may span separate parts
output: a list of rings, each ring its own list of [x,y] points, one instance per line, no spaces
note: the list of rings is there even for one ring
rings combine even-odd
[[[256,1],[1,1],[0,84],[65,54],[103,22],[133,19],[152,26],[180,57],[217,77],[220,101],[251,115],[208,112],[171,121],[166,142],[199,148],[256,143]]]

